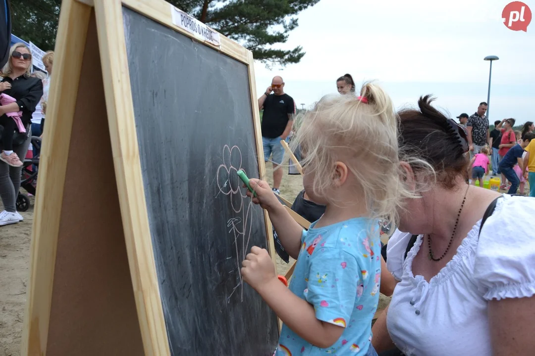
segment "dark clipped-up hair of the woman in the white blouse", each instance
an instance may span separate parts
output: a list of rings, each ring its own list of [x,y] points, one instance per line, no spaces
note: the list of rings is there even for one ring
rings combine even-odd
[[[458,177],[468,178],[466,133],[458,133],[461,131],[457,130],[464,129],[432,107],[433,100],[430,95],[420,97],[419,110],[402,109],[398,112],[400,160],[408,156],[429,163],[437,182],[452,188]],[[418,167],[412,169],[418,171]]]

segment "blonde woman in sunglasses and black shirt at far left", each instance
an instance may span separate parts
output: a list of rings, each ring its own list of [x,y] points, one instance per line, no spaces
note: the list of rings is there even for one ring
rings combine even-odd
[[[29,48],[16,43],[11,47],[10,59],[2,68],[0,93],[14,99],[7,105],[0,106],[0,124],[4,126],[0,138],[0,197],[4,211],[0,213],[0,226],[18,223],[22,216],[16,210],[17,195],[20,188],[24,160],[32,138],[32,113],[41,96],[43,84],[39,78],[30,76],[32,54]],[[18,113],[24,130],[16,129],[12,117],[7,113]]]

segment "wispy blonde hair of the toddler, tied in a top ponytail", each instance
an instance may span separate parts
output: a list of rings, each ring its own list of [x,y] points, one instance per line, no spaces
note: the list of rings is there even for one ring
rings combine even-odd
[[[364,199],[354,204],[365,204],[370,218],[396,224],[398,208],[411,194],[402,181],[393,102],[373,82],[365,83],[360,93],[360,97],[325,96],[302,114],[292,150],[301,146],[303,167],[315,175],[315,194],[327,195],[334,162],[343,160]]]

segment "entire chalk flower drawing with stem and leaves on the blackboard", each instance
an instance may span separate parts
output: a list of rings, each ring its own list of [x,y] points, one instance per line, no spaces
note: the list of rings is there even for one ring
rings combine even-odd
[[[217,194],[227,196],[231,201],[232,216],[227,220],[228,233],[234,239],[236,252],[236,268],[238,269],[239,281],[227,297],[227,303],[238,288],[240,288],[240,298],[243,302],[243,278],[240,268],[243,259],[249,249],[249,240],[251,238],[251,226],[253,225],[253,202],[247,197],[245,189],[242,188],[242,181],[238,177],[238,170],[245,170],[241,167],[242,157],[238,146],[223,147],[223,164],[217,168]],[[247,172],[246,172],[247,174]],[[241,243],[241,251],[240,251]],[[241,252],[241,253],[240,253]]]

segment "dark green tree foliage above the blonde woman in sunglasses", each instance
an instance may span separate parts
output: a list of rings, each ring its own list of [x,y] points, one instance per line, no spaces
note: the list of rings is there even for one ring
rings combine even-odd
[[[53,50],[60,6],[61,0],[11,0],[11,33],[43,51]]]

